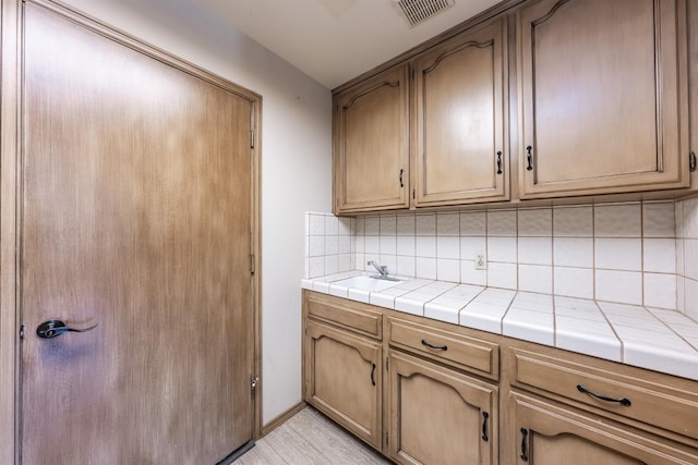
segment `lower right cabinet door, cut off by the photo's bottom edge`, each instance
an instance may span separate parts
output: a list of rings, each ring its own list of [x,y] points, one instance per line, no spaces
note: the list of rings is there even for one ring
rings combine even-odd
[[[535,465],[696,464],[698,451],[629,426],[512,394],[515,438],[508,463]]]

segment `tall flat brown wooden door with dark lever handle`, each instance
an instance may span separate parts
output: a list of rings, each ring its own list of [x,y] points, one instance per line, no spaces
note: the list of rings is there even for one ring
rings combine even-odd
[[[22,463],[214,464],[253,430],[252,101],[91,25],[24,5]]]

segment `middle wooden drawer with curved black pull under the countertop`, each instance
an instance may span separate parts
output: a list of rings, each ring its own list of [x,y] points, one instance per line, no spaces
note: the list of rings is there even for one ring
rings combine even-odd
[[[490,379],[500,374],[496,344],[411,321],[388,319],[389,343]]]

